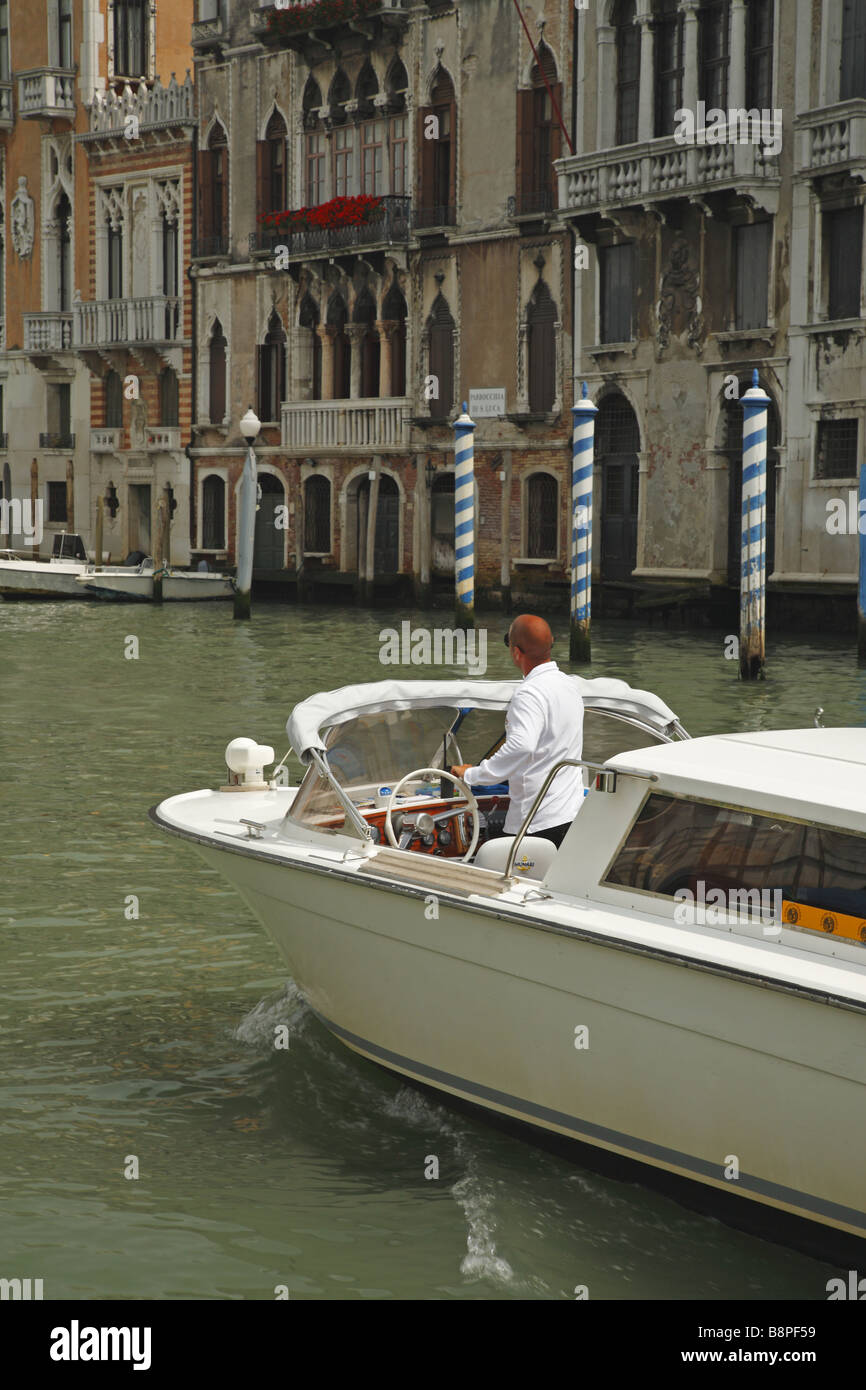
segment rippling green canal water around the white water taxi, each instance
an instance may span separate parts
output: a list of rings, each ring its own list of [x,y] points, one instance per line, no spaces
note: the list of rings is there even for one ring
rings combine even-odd
[[[229,738],[282,755],[297,699],[423,674],[378,660],[379,631],[406,617],[448,624],[0,607],[0,1276],[42,1279],[46,1298],[274,1298],[278,1284],[310,1300],[573,1298],[578,1284],[591,1298],[826,1298],[830,1266],[356,1058],[234,891],[149,823],[163,796],[218,784]],[[488,674],[512,676],[505,623],[487,621]],[[866,723],[851,642],[773,641],[752,687],[716,632],[599,626],[591,674],[656,691],[692,734],[810,724],[817,705],[827,724]],[[272,1048],[278,1023],[288,1051]]]

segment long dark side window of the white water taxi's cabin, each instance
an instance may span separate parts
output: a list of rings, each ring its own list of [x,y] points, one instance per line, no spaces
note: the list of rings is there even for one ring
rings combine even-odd
[[[685,888],[698,901],[721,890],[731,906],[756,912],[762,892],[780,891],[790,924],[833,931],[834,913],[856,917],[866,941],[866,835],[746,808],[652,792],[602,881],[664,897]],[[812,922],[808,909],[826,917]]]

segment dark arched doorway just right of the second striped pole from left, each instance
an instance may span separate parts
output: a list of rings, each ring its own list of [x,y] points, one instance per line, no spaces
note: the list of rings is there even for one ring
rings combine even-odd
[[[602,468],[602,580],[628,580],[638,560],[638,450],[641,432],[620,392],[599,404],[595,457]]]

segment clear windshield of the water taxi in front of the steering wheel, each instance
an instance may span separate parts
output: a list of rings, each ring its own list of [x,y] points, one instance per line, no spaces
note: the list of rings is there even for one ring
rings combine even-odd
[[[382,795],[388,795],[416,769],[478,762],[498,742],[503,727],[505,710],[400,709],[335,724],[324,742],[335,780],[364,810],[377,803],[381,788],[386,787]],[[425,792],[438,795],[438,781],[420,780],[403,788],[406,796]],[[349,826],[343,817],[345,808],[334,787],[310,766],[289,819],[320,830],[345,831]]]

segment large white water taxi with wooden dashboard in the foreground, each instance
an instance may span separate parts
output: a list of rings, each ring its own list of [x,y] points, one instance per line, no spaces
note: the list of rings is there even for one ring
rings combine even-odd
[[[299,787],[235,739],[225,785],[150,815],[366,1058],[734,1220],[866,1237],[866,730],[691,739],[655,695],[574,680],[588,790],[559,849],[525,835],[550,777],[493,838],[507,788],[443,773],[496,746],[516,681],[316,695]]]

